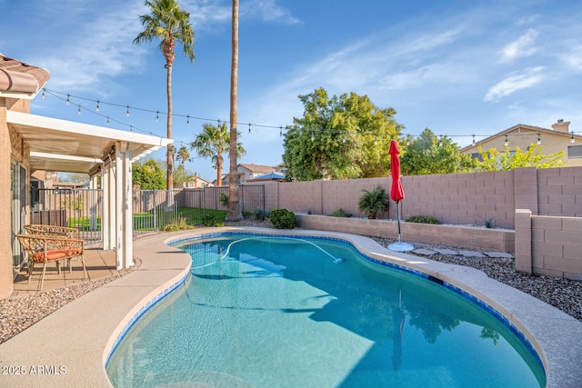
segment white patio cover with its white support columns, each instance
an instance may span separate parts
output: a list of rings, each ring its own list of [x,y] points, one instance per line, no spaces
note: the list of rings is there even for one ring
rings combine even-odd
[[[131,164],[172,139],[14,111],[6,122],[29,144],[31,170],[102,174],[104,249],[115,248],[117,269],[132,266]]]

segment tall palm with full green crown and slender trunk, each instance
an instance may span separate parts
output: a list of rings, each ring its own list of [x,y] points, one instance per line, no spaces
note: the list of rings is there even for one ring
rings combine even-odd
[[[146,0],[150,15],[141,15],[139,20],[145,30],[134,39],[135,44],[160,40],[159,49],[166,58],[166,92],[167,92],[167,137],[172,138],[172,65],[176,54],[176,42],[183,47],[184,55],[194,62],[194,30],[190,25],[190,13],[180,8],[176,0]],[[174,178],[173,148],[167,147],[167,189],[172,189]]]

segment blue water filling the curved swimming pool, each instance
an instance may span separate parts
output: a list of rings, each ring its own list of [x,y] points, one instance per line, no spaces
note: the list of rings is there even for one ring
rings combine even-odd
[[[106,366],[115,387],[546,384],[477,303],[349,244],[224,234],[181,248],[192,278],[126,333]]]

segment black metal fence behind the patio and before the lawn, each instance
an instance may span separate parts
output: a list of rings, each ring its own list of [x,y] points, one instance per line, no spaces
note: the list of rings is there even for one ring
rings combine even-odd
[[[202,224],[204,215],[226,214],[228,187],[182,190],[134,190],[134,234],[158,231],[167,224]],[[238,199],[243,214],[265,208],[263,185],[241,185]],[[79,229],[86,242],[101,242],[103,191],[97,189],[36,189],[31,192],[32,224]]]

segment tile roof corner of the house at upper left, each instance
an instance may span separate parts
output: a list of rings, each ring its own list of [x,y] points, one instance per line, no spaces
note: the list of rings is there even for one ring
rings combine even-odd
[[[50,77],[42,67],[27,65],[0,53],[0,92],[36,94]]]

